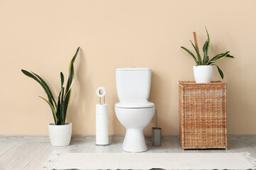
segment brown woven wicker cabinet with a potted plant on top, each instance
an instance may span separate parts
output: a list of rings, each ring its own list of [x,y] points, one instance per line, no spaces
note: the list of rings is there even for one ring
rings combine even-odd
[[[227,149],[227,84],[178,81],[182,149]]]

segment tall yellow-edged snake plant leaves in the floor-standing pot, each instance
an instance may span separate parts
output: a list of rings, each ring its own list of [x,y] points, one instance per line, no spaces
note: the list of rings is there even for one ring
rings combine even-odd
[[[61,86],[60,86],[60,93],[58,95],[58,102],[56,103],[55,99],[53,98],[53,94],[50,91],[49,86],[46,84],[46,81],[44,81],[38,74],[33,73],[33,72],[28,72],[24,69],[21,69],[21,72],[25,74],[28,77],[31,77],[32,79],[36,80],[38,84],[40,84],[44,91],[46,91],[46,95],[48,97],[48,100],[46,98],[43,98],[44,101],[48,103],[50,106],[50,109],[53,113],[53,119],[55,125],[65,125],[65,118],[68,113],[68,106],[70,102],[70,97],[71,97],[71,87],[73,85],[73,80],[74,80],[74,62],[75,58],[78,55],[80,47],[78,47],[78,50],[76,50],[74,57],[72,58],[70,65],[69,65],[69,76],[68,76],[68,81],[65,87],[63,87],[64,84],[64,75],[62,72],[60,72],[60,81],[61,81]]]

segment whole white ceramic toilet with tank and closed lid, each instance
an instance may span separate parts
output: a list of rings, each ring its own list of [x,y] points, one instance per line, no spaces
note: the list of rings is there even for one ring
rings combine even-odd
[[[154,103],[148,101],[151,69],[129,67],[115,70],[117,96],[115,113],[126,128],[122,149],[125,152],[146,152],[143,130],[154,115]]]

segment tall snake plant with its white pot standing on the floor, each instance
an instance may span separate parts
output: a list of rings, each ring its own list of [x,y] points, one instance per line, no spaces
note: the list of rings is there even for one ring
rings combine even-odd
[[[24,69],[21,69],[21,72],[23,72],[23,74],[36,80],[43,87],[44,91],[46,91],[48,100],[41,96],[39,97],[43,98],[43,100],[48,103],[53,113],[54,123],[50,123],[48,125],[50,144],[53,146],[60,147],[60,146],[67,146],[70,144],[71,135],[72,135],[72,123],[65,123],[65,119],[68,113],[68,106],[69,106],[70,97],[71,97],[71,87],[73,85],[73,80],[74,80],[73,64],[75,62],[75,58],[78,55],[79,49],[80,47],[78,47],[78,50],[76,50],[75,55],[70,62],[69,69],[68,69],[69,76],[68,76],[68,81],[65,87],[63,87],[64,75],[62,72],[60,72],[61,86],[60,86],[60,93],[58,95],[57,103],[53,98],[53,94],[51,93],[49,86],[46,84],[46,81],[44,81],[36,73],[28,72]]]

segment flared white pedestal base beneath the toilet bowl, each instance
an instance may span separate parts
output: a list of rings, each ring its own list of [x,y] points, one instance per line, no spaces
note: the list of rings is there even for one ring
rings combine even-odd
[[[146,142],[143,129],[129,129],[124,138],[122,149],[125,152],[146,152]]]

